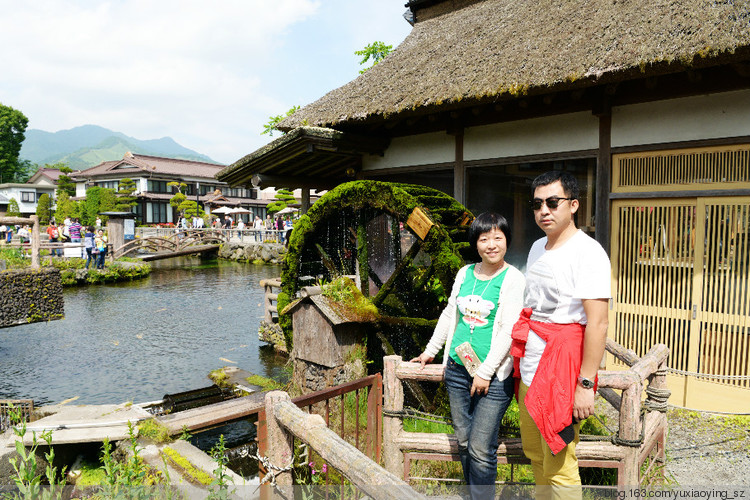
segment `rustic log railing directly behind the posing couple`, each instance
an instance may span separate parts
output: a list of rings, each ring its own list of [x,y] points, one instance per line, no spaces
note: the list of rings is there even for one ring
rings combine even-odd
[[[626,371],[599,371],[599,393],[619,411],[619,431],[615,439],[581,441],[576,447],[582,467],[617,469],[618,486],[637,485],[648,477],[656,462],[664,460],[667,431],[666,366],[669,349],[663,344],[654,346],[639,359],[635,353],[611,340],[607,350],[630,366]],[[400,356],[383,358],[383,459],[385,468],[409,480],[412,460],[459,460],[458,442],[453,434],[406,432],[403,428],[404,380],[441,382],[444,366],[402,361]],[[644,383],[648,381],[646,403],[641,412]],[[613,389],[621,390],[622,396]],[[657,399],[659,403],[657,403]],[[616,444],[620,443],[620,444]],[[641,465],[648,467],[641,471]],[[499,441],[498,463],[529,463],[523,455],[519,438]],[[663,473],[663,470],[661,471]]]

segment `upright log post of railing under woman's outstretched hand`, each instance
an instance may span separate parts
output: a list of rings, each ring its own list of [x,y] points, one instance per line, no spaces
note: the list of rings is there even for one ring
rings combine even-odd
[[[396,376],[396,368],[401,363],[401,356],[383,358],[383,462],[385,470],[403,477],[404,454],[399,448],[397,439],[403,430],[401,418],[389,416],[389,412],[400,412],[404,409],[404,386]]]

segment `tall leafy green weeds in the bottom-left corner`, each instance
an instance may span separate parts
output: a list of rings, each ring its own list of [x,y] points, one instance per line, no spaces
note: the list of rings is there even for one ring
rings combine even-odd
[[[55,491],[55,487],[65,484],[64,479],[58,479],[65,476],[65,468],[58,475],[57,467],[52,465],[55,461],[55,450],[51,446],[52,431],[45,431],[39,435],[42,441],[49,447],[49,452],[44,454],[48,465],[44,471],[44,475],[42,475],[37,472],[37,451],[42,442],[37,439],[36,432],[32,432],[31,446],[27,450],[23,444],[23,438],[26,435],[26,419],[21,415],[20,409],[14,407],[12,404],[9,406],[9,413],[10,420],[14,424],[13,434],[18,438],[16,439],[16,453],[18,456],[9,459],[16,474],[13,477],[13,482],[18,488],[18,493],[12,495],[11,498],[30,498],[34,500],[57,498],[59,492]],[[42,488],[43,478],[46,479],[49,488]]]

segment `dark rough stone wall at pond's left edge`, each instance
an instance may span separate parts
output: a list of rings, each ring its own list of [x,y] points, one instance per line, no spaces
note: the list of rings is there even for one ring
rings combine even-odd
[[[0,272],[0,328],[61,319],[60,272],[51,267]]]

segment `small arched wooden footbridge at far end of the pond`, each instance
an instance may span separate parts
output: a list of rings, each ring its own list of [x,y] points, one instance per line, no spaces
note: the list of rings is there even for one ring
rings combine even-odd
[[[186,229],[170,236],[136,238],[114,250],[114,257],[135,257],[144,261],[213,252],[229,241],[229,235],[213,229]]]

